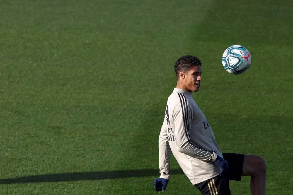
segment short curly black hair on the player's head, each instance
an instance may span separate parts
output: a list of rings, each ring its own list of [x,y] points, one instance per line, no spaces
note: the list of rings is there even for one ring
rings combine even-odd
[[[174,65],[177,79],[179,78],[179,72],[187,73],[193,66],[201,66],[202,63],[199,58],[191,55],[182,56],[178,58]]]

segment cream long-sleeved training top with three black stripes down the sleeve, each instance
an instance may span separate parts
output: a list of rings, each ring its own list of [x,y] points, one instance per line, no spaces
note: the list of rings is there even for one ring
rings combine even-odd
[[[160,177],[165,179],[170,177],[170,149],[193,185],[219,174],[214,160],[223,155],[213,130],[192,93],[178,88],[168,98],[159,136]]]

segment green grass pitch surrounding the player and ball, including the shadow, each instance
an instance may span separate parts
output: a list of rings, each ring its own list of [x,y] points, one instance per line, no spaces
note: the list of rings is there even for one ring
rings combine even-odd
[[[156,194],[173,64],[203,66],[195,101],[223,152],[261,155],[292,194],[293,3],[0,0],[0,194]],[[250,69],[227,73],[230,45]],[[200,194],[174,158],[166,194]],[[231,182],[250,194],[249,178]]]

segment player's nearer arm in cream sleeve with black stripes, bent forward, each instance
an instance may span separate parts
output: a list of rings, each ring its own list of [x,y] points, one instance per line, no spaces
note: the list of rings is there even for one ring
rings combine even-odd
[[[184,104],[185,103],[185,104]],[[188,102],[178,103],[174,107],[173,119],[175,124],[176,144],[178,151],[200,160],[214,162],[217,153],[214,151],[200,148],[190,140],[190,129],[193,119],[192,108]]]

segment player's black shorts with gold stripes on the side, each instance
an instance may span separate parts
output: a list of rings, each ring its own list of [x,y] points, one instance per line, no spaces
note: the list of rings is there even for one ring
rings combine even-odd
[[[228,162],[228,171],[212,179],[195,184],[204,195],[230,195],[229,180],[241,181],[243,172],[244,154],[223,153]]]

